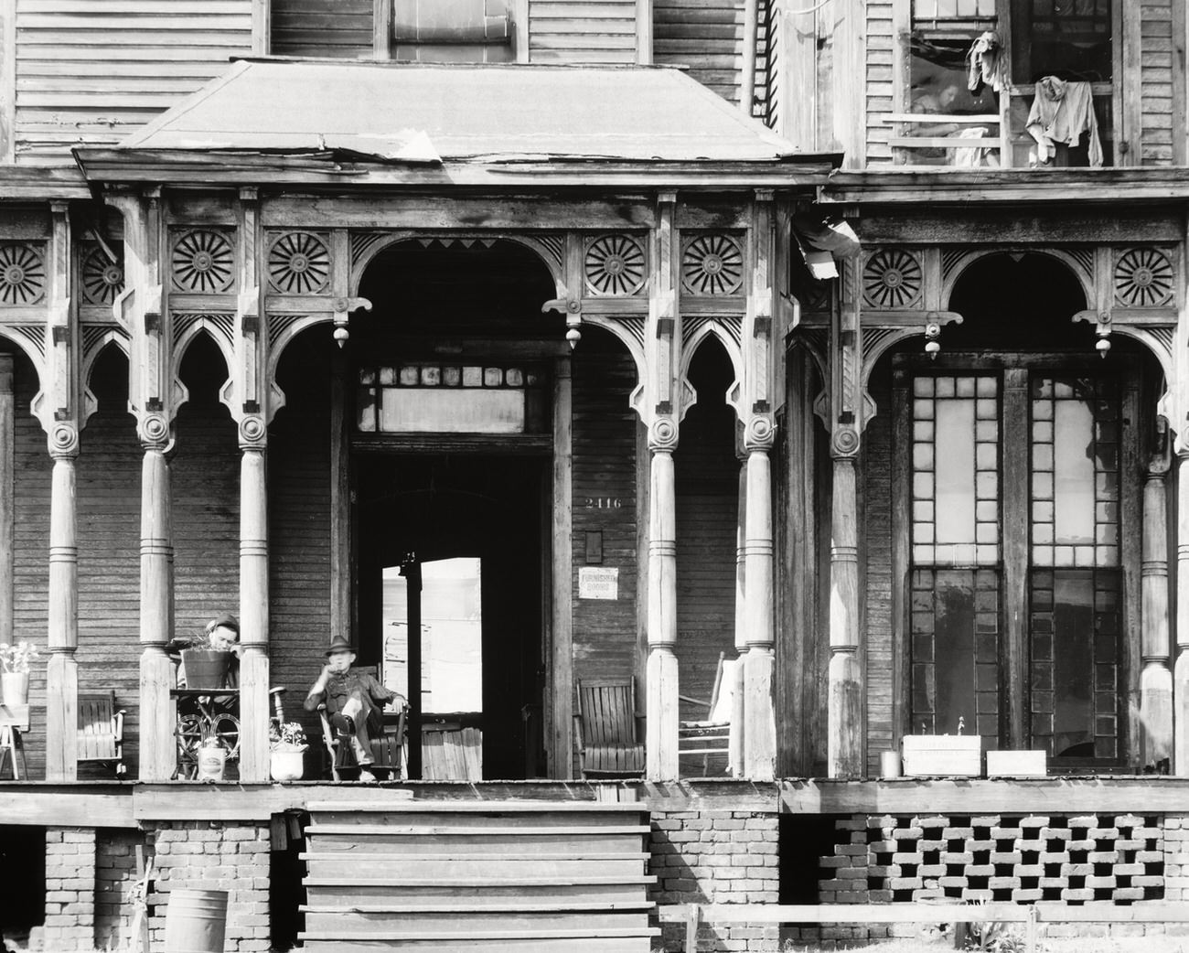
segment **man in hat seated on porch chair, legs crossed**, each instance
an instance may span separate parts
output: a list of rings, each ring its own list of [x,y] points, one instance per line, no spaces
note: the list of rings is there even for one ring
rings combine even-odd
[[[351,740],[351,750],[359,763],[359,780],[375,781],[367,770],[372,763],[371,734],[384,730],[382,706],[404,698],[384,688],[372,675],[356,671],[354,649],[341,636],[335,636],[326,650],[326,665],[306,696],[306,711],[313,712],[326,701],[326,713],[339,732],[339,737]]]

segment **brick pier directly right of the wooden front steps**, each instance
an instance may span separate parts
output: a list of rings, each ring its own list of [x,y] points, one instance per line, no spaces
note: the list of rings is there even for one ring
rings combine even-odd
[[[668,903],[776,903],[778,815],[742,810],[654,810],[652,900]],[[698,949],[776,951],[775,927],[702,928]],[[685,928],[666,926],[665,949],[682,949]]]

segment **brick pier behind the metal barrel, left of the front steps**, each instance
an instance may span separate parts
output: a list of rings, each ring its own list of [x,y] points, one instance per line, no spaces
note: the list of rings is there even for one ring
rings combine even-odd
[[[156,825],[153,835],[157,903],[150,927],[155,945],[165,939],[170,890],[226,890],[227,953],[269,949],[268,825],[174,821]]]

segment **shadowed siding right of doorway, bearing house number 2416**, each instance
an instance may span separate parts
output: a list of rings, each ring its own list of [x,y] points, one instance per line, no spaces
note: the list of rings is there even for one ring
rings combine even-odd
[[[635,671],[636,416],[628,404],[635,385],[635,364],[623,347],[605,332],[584,330],[573,362],[575,680],[643,674]],[[599,499],[611,499],[612,506],[598,506]],[[578,598],[578,572],[591,564],[587,532],[603,534],[600,564],[619,570],[619,598],[614,601]]]

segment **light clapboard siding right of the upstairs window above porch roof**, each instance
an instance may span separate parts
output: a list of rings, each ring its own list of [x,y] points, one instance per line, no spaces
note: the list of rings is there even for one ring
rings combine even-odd
[[[534,63],[635,63],[636,0],[529,0]]]

